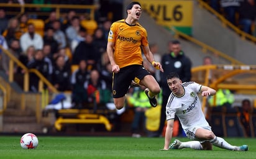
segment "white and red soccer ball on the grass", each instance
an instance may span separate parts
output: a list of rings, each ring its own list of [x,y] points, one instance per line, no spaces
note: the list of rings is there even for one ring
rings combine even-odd
[[[39,140],[35,134],[27,133],[21,137],[21,147],[23,149],[34,149],[38,144]]]

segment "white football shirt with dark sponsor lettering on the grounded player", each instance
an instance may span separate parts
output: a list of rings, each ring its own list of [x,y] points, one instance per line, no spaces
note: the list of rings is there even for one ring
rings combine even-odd
[[[204,117],[201,102],[197,94],[201,91],[202,85],[194,82],[186,82],[182,86],[185,90],[183,96],[178,97],[171,93],[168,98],[166,106],[167,120],[174,119],[176,114],[184,130],[195,126],[209,126]]]

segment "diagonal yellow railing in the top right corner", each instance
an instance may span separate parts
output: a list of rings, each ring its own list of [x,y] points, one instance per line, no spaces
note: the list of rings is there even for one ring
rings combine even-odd
[[[240,30],[238,27],[236,27],[231,22],[229,22],[225,17],[223,17],[221,14],[219,14],[219,12],[215,11],[212,7],[210,7],[206,2],[204,2],[202,0],[197,0],[197,1],[198,1],[199,5],[201,7],[204,7],[209,12],[213,13],[218,19],[220,19],[222,21],[222,24],[224,25],[224,27],[226,27],[226,26],[230,27],[237,34],[239,34],[242,39],[246,38],[246,39],[250,39],[252,42],[256,42],[256,37],[254,37],[250,34],[247,34],[247,33],[243,32],[242,30]]]

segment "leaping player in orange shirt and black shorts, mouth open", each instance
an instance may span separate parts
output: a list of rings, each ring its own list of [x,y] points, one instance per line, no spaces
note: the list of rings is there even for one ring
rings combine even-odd
[[[138,23],[142,14],[139,2],[131,2],[127,6],[126,19],[114,22],[111,25],[107,40],[107,55],[112,65],[113,83],[112,95],[117,109],[124,107],[126,93],[130,83],[134,80],[137,84],[146,87],[150,104],[157,106],[155,96],[160,93],[160,86],[143,66],[142,50],[150,63],[160,71],[162,65],[155,61],[149,49],[147,30]],[[141,50],[142,49],[142,50]]]

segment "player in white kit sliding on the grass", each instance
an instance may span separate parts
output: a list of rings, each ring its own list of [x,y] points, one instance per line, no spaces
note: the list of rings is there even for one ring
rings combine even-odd
[[[231,145],[221,137],[216,137],[206,121],[201,103],[197,93],[202,96],[213,96],[216,91],[208,86],[203,86],[195,82],[182,83],[177,73],[170,73],[167,76],[167,83],[172,93],[170,94],[166,106],[167,129],[165,133],[165,145],[162,150],[193,148],[196,150],[213,150],[213,145],[219,148],[234,151],[247,151],[248,146],[240,147]],[[183,130],[189,142],[174,140],[170,144],[173,134],[174,117],[178,116]]]

